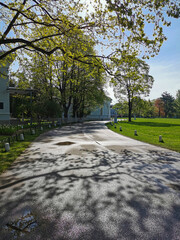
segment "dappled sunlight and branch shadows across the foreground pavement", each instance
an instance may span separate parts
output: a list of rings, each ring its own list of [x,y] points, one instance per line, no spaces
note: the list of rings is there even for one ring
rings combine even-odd
[[[3,226],[24,214],[24,202],[38,212],[37,227],[22,239],[177,239],[180,193],[168,184],[178,183],[180,171],[171,153],[92,150],[73,158],[34,151],[1,179]]]

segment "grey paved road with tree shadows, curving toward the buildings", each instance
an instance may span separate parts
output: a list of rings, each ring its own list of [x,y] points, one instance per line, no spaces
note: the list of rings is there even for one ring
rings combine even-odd
[[[0,176],[0,239],[180,239],[180,154],[97,122],[43,134]]]

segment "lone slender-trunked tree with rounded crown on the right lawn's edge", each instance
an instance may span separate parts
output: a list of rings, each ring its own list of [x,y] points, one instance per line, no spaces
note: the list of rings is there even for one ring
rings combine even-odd
[[[117,71],[112,80],[114,92],[117,98],[121,94],[127,97],[130,122],[134,98],[142,94],[148,96],[154,79],[149,75],[149,66],[135,54],[123,52],[116,65]]]

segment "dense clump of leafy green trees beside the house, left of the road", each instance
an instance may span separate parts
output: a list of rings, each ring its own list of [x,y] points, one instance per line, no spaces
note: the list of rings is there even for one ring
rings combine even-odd
[[[84,52],[93,54],[93,41],[88,38],[89,41],[87,42],[87,37],[82,34],[79,35],[80,37],[85,39],[81,45],[66,37],[64,37],[64,43],[68,44],[69,50],[74,54],[77,51],[82,54]],[[47,42],[47,40],[44,40],[43,42],[49,47],[54,45],[53,41]],[[95,105],[103,104],[105,99],[103,69],[100,60],[95,65],[87,64],[87,62],[85,64],[75,61],[68,55],[62,54],[61,51],[57,51],[51,56],[30,52],[26,60],[22,57],[21,68],[25,73],[23,79],[27,79],[29,86],[38,89],[39,94],[36,96],[40,98],[41,106],[44,98],[47,100],[49,98],[49,103],[54,103],[56,98],[65,118],[68,118],[71,107],[73,116],[82,117],[87,115]],[[44,101],[44,103],[47,106],[52,105],[47,104],[47,101]],[[49,113],[52,113],[52,111],[49,111]]]

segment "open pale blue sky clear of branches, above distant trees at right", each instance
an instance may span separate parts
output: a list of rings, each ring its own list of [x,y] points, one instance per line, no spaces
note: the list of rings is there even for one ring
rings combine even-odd
[[[164,42],[157,56],[146,60],[150,66],[150,75],[154,77],[154,84],[147,99],[156,99],[165,91],[173,97],[180,89],[180,19],[172,19],[170,27],[165,29],[167,41]],[[108,88],[112,103],[117,100],[113,90]]]

